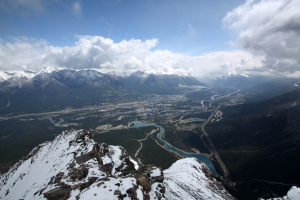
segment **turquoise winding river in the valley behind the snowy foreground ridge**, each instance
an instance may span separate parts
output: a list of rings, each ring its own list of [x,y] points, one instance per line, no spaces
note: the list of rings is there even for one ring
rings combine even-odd
[[[184,152],[184,151],[182,151],[182,150],[180,150],[180,149],[177,149],[176,147],[173,147],[173,146],[172,146],[171,144],[169,144],[168,142],[164,141],[164,140],[161,138],[161,136],[165,133],[165,130],[164,130],[163,127],[161,127],[161,126],[159,126],[159,125],[155,125],[155,124],[145,124],[145,123],[141,123],[141,122],[139,122],[139,121],[135,121],[135,122],[134,122],[134,125],[131,126],[131,128],[140,128],[140,127],[145,127],[145,126],[155,126],[155,127],[158,127],[158,128],[159,128],[160,132],[159,132],[159,134],[157,135],[157,138],[158,138],[161,142],[164,143],[164,146],[165,146],[167,149],[169,149],[169,150],[171,150],[171,151],[174,151],[174,152],[177,152],[177,153],[181,154],[181,155],[184,156],[184,157],[195,157],[195,158],[197,158],[199,161],[204,162],[213,174],[219,176],[219,174],[217,173],[217,171],[216,171],[214,165],[212,164],[211,160],[210,160],[207,156],[205,156],[205,155],[203,155],[203,154],[197,154],[197,153],[186,153],[186,152]]]

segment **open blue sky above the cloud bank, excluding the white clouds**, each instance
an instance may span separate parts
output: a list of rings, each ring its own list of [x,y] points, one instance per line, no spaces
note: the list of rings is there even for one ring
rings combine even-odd
[[[77,5],[78,11],[73,8]],[[28,36],[53,45],[73,45],[76,35],[115,42],[158,38],[156,49],[197,55],[230,48],[222,18],[242,0],[61,1],[1,12],[1,37]],[[4,20],[3,20],[4,19]]]

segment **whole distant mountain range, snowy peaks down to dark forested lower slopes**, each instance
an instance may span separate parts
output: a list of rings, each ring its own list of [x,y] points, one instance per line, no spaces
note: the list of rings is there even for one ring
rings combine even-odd
[[[0,112],[41,112],[66,107],[119,101],[120,92],[131,94],[183,94],[189,87],[205,86],[192,76],[151,74],[137,71],[129,76],[94,70],[45,69],[0,73]],[[9,106],[10,105],[10,106]],[[30,108],[30,109],[29,109]]]

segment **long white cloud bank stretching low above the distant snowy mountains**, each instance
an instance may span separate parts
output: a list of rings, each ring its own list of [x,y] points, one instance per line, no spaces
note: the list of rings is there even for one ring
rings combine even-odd
[[[157,73],[190,73],[194,76],[216,72],[260,71],[261,57],[244,51],[213,52],[188,56],[152,48],[157,39],[114,42],[100,36],[77,36],[73,46],[55,47],[44,40],[15,38],[0,43],[0,69],[39,71],[44,67],[97,69],[107,71],[145,70]]]

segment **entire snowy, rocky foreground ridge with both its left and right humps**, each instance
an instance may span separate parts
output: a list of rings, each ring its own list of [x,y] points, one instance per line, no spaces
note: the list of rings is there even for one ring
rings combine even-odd
[[[0,199],[233,199],[196,159],[161,171],[120,146],[70,130],[35,147],[0,178]]]

